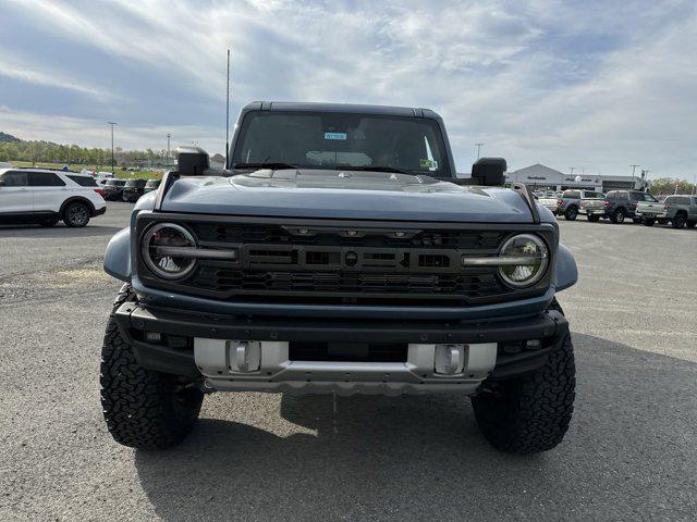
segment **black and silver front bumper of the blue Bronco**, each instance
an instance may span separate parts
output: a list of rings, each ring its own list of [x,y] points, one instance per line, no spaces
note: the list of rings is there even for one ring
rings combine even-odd
[[[475,393],[487,378],[508,378],[540,368],[568,334],[559,312],[533,316],[452,322],[395,322],[248,318],[146,308],[135,302],[115,312],[121,333],[138,363],[150,370],[205,377],[219,390],[339,394]],[[146,333],[160,334],[148,343]],[[289,357],[291,343],[394,343],[408,346],[401,362],[307,361]],[[537,349],[524,347],[539,339]],[[242,372],[231,363],[234,343],[260,346],[260,364]],[[172,343],[174,341],[174,343]],[[435,369],[436,347],[462,345],[464,363],[455,374]]]

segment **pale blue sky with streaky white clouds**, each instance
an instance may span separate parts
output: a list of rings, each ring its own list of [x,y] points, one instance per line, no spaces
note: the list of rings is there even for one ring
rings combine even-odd
[[[476,142],[513,171],[693,181],[695,0],[0,0],[0,130],[224,153],[254,100],[424,107],[458,172]],[[231,124],[232,125],[232,124]]]

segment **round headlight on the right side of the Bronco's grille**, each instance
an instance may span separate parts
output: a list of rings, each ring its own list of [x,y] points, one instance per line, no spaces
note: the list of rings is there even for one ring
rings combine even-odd
[[[545,241],[531,234],[519,234],[505,241],[499,251],[503,263],[499,274],[514,288],[531,286],[545,275],[549,253]]]

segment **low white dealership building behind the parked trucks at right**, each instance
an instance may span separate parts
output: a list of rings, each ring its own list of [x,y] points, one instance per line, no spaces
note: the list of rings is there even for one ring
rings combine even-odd
[[[648,186],[641,175],[564,174],[540,163],[518,171],[508,172],[506,183],[525,183],[533,189],[564,190],[566,188],[580,188],[602,192],[632,188],[644,190]]]

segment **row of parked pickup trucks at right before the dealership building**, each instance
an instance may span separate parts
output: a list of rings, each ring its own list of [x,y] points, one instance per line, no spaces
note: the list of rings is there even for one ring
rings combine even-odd
[[[585,215],[590,222],[609,220],[612,223],[670,223],[673,228],[694,228],[697,225],[697,196],[672,195],[662,201],[641,190],[610,190],[602,194],[594,190],[565,190],[554,197],[536,195],[540,204],[555,215],[574,221]]]

